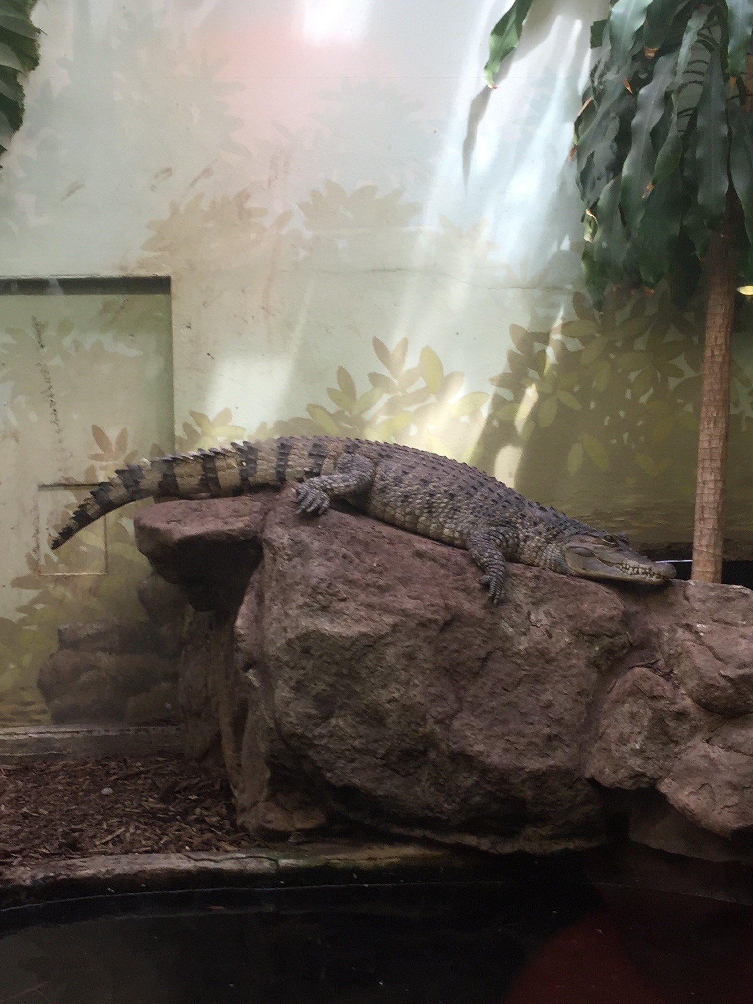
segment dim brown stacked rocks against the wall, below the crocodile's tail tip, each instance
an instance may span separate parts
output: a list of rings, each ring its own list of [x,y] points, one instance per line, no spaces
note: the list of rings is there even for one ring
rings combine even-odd
[[[37,686],[55,724],[178,721],[186,599],[152,572],[139,589],[148,620],[62,624]]]

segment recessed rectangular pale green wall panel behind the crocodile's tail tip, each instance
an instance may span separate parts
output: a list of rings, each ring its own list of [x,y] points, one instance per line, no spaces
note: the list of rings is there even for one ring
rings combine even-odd
[[[112,720],[122,703],[59,693],[63,678],[75,690],[86,672],[96,676],[105,650],[117,658],[112,631],[100,623],[96,650],[90,630],[70,630],[65,653],[50,657],[62,624],[145,619],[136,586],[149,566],[134,544],[135,506],[58,552],[49,539],[92,484],[173,448],[169,286],[7,280],[0,305],[0,726]]]

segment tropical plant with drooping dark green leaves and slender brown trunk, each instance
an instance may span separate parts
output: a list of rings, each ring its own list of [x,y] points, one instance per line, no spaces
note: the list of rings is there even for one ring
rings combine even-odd
[[[495,25],[490,86],[532,0]],[[684,302],[707,263],[693,577],[720,581],[739,285],[753,284],[753,112],[746,60],[753,0],[616,0],[591,26],[594,51],[574,123],[583,272],[594,305],[628,281],[663,279]]]

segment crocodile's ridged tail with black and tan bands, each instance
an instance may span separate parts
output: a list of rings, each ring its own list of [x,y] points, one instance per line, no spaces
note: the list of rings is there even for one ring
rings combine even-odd
[[[328,473],[339,452],[336,443],[328,437],[287,437],[129,464],[91,490],[50,547],[56,550],[85,526],[137,499],[220,498]]]

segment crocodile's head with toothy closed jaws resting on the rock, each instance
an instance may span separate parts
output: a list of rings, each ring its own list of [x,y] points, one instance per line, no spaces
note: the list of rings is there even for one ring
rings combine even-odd
[[[669,562],[657,563],[634,551],[628,538],[611,533],[578,533],[560,544],[571,575],[663,585],[677,574]]]

